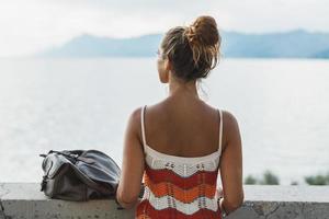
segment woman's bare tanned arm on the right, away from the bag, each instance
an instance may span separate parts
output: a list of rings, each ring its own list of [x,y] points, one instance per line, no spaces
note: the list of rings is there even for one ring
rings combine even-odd
[[[242,147],[238,122],[229,112],[224,113],[225,148],[220,158],[223,208],[229,214],[243,203]]]

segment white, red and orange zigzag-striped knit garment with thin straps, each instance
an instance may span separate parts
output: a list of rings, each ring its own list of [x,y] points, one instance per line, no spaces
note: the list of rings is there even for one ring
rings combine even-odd
[[[219,113],[218,150],[203,157],[177,157],[150,148],[141,136],[145,151],[145,193],[136,207],[137,219],[222,219],[217,204],[217,175],[222,154],[223,113]]]

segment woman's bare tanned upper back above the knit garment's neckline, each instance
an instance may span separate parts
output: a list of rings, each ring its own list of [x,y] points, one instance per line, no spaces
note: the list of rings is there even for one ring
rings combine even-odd
[[[201,157],[218,150],[218,111],[198,99],[180,99],[168,97],[147,106],[147,145],[179,157]]]

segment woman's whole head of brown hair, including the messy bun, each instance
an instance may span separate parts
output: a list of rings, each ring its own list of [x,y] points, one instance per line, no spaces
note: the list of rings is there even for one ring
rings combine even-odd
[[[215,19],[198,16],[190,26],[177,26],[166,33],[162,53],[172,72],[183,81],[206,78],[218,62],[220,35]]]

